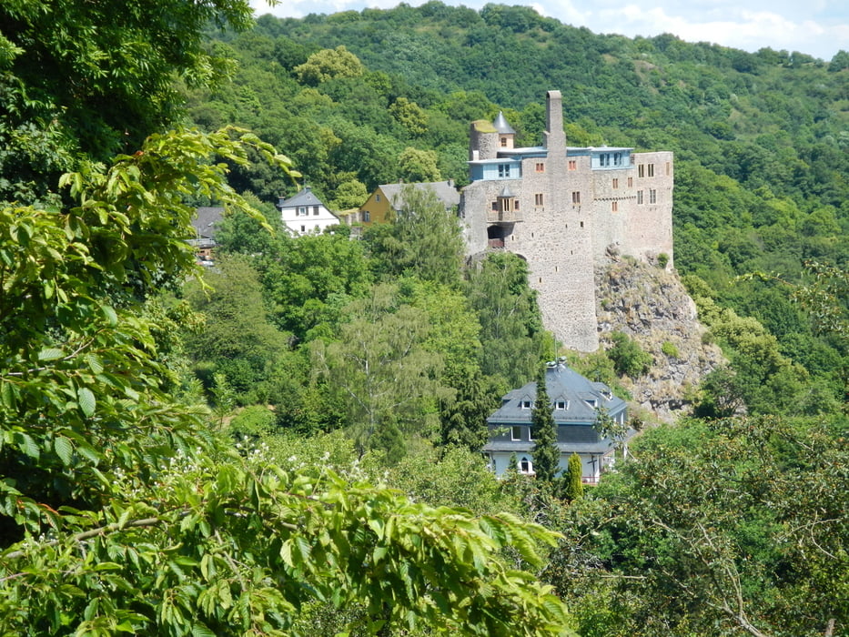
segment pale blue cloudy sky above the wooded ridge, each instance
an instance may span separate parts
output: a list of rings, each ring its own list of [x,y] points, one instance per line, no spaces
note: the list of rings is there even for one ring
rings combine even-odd
[[[424,0],[407,0],[417,6]],[[492,0],[494,4],[532,6],[541,15],[563,24],[586,26],[596,34],[651,37],[677,35],[687,42],[711,42],[754,52],[769,47],[799,51],[830,61],[837,51],[849,51],[847,0]],[[303,17],[360,11],[366,7],[389,9],[398,0],[250,0],[257,15]],[[487,0],[453,2],[480,9]]]

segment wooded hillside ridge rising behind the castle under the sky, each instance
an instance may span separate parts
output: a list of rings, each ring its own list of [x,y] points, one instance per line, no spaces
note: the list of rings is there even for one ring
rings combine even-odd
[[[726,318],[759,321],[777,339],[771,351],[804,367],[793,368],[793,387],[815,378],[842,399],[845,350],[816,333],[787,282],[804,280],[805,261],[844,268],[849,258],[846,52],[824,61],[673,35],[594,35],[528,7],[439,2],[265,15],[248,34],[208,35],[241,70],[231,89],[189,96],[194,121],[256,130],[339,208],[399,180],[467,183],[469,122],[499,110],[517,145],[538,144],[548,89],[563,94],[570,145],[672,150],[675,267],[687,287],[728,308]],[[231,183],[268,201],[293,191],[239,167]],[[753,272],[782,280],[739,278]],[[748,354],[718,342],[733,365],[748,365]],[[753,365],[763,387],[788,369]]]

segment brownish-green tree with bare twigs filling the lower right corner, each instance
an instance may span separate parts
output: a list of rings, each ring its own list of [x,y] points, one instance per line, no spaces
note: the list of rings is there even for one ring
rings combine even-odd
[[[845,432],[844,421],[763,417],[644,433],[640,460],[618,465],[562,523],[571,574],[558,590],[603,596],[612,614],[582,634],[846,625]]]

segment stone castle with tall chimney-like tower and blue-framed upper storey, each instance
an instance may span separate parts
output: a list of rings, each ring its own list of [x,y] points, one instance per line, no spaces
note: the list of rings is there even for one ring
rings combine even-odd
[[[514,147],[503,115],[471,124],[471,183],[460,196],[467,252],[528,263],[543,324],[564,346],[599,347],[594,268],[611,254],[672,268],[672,152],[568,147],[560,91],[540,147]]]

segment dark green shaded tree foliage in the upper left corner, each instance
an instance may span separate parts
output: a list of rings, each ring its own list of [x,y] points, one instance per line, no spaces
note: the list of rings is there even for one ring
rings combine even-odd
[[[44,197],[64,171],[106,161],[162,131],[177,113],[172,77],[194,85],[235,69],[202,43],[214,21],[251,25],[248,2],[146,5],[12,0],[0,7],[0,199]],[[177,34],[179,34],[177,36]]]

